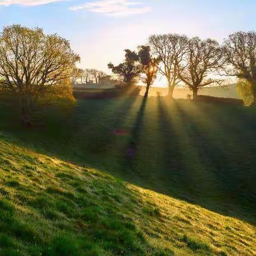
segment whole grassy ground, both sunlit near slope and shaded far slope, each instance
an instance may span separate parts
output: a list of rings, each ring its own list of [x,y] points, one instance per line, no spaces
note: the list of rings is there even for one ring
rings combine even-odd
[[[2,255],[256,254],[255,107],[81,100],[28,130],[11,106]]]

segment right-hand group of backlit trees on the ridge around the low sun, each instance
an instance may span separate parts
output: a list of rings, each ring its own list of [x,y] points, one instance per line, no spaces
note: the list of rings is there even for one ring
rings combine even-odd
[[[211,38],[151,35],[147,45],[137,51],[125,50],[124,62],[108,67],[123,86],[132,87],[139,79],[145,83],[145,97],[158,74],[166,77],[170,98],[177,85],[185,85],[194,99],[202,87],[222,85],[225,77],[236,77],[238,92],[250,105],[256,96],[256,33],[239,31],[222,44]]]

